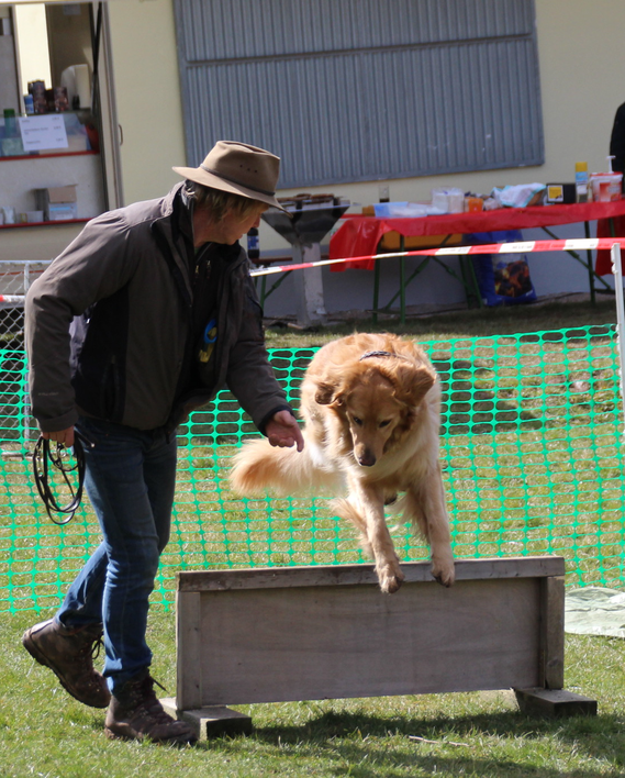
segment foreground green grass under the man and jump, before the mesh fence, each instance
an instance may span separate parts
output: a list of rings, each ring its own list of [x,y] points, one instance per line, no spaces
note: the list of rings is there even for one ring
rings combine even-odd
[[[566,688],[596,699],[596,718],[523,715],[506,691],[237,705],[252,715],[250,736],[179,749],[108,741],[104,711],[68,697],[22,648],[32,622],[29,613],[0,615],[2,778],[625,776],[620,640],[567,637]],[[153,674],[172,693],[171,614],[153,613],[148,641]]]

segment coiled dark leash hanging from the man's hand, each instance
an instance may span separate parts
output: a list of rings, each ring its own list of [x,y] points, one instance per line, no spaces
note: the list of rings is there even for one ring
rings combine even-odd
[[[51,441],[40,435],[40,440],[35,444],[33,451],[33,476],[37,486],[37,491],[45,505],[46,512],[51,521],[59,526],[69,523],[74,519],[74,514],[80,505],[82,499],[82,487],[85,486],[85,448],[87,445],[93,447],[93,443],[88,441],[85,435],[75,431],[74,437],[74,458],[75,464],[68,466],[67,448],[63,443],[56,444],[56,449],[51,448]],[[51,485],[51,467],[60,473],[66,487],[69,490],[70,500],[66,505],[59,505],[58,500]],[[78,487],[70,478],[71,474],[76,474]],[[74,481],[76,478],[74,479]],[[58,520],[53,513],[60,513],[66,519]]]

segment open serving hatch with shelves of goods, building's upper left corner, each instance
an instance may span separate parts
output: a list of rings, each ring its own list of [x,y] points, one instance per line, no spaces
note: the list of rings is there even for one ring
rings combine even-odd
[[[75,216],[82,221],[121,200],[104,19],[101,2],[0,0],[0,190],[1,204],[18,216],[15,226],[20,214],[42,223],[38,190],[76,186]],[[67,138],[60,147],[47,148],[41,135],[36,149],[24,148],[15,120],[4,122],[5,109],[24,113],[29,84],[30,112],[63,113]]]

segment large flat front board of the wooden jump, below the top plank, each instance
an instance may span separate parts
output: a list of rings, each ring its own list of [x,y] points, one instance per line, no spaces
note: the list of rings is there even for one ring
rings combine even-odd
[[[533,578],[207,591],[200,618],[181,709],[542,685]]]

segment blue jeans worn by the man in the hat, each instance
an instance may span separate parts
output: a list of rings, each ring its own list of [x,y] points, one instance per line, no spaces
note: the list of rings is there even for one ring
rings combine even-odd
[[[85,446],[85,489],[103,541],[56,619],[69,627],[103,623],[103,674],[114,691],[152,662],[145,641],[148,599],[169,540],[176,435],[86,418],[76,427],[94,444]]]

